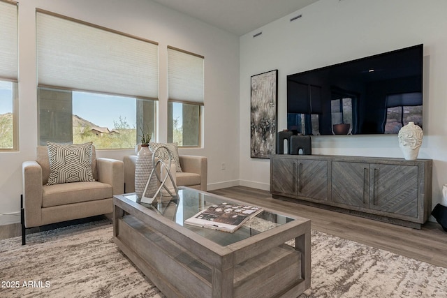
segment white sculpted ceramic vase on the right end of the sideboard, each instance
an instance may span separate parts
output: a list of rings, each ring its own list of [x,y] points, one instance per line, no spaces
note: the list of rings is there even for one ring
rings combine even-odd
[[[399,147],[402,149],[404,158],[409,161],[418,158],[419,148],[424,137],[422,128],[414,124],[414,122],[409,122],[409,124],[400,128],[397,137],[399,138]]]

